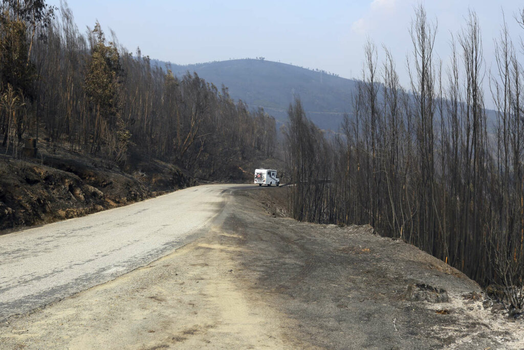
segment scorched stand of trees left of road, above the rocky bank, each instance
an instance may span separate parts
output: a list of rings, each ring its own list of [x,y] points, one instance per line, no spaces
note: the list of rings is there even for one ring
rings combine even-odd
[[[0,3],[0,135],[20,157],[27,140],[113,166],[158,159],[213,179],[239,162],[269,157],[275,120],[236,103],[227,88],[173,75],[107,38],[79,32],[67,5]]]

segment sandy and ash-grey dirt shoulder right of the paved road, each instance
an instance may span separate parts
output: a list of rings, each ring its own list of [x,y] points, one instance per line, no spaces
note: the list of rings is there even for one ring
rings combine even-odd
[[[283,191],[237,190],[203,237],[11,317],[0,348],[524,347],[522,320],[465,300],[480,288],[459,271],[370,227],[279,217]]]

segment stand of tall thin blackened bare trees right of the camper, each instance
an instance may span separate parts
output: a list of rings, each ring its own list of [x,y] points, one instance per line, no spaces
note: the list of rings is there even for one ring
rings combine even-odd
[[[522,43],[503,24],[496,69],[486,72],[478,19],[451,39],[449,67],[433,51],[436,24],[418,7],[411,24],[412,94],[388,51],[364,50],[353,116],[337,137],[289,109],[291,213],[298,220],[370,224],[464,271],[503,286],[524,307],[524,86]],[[524,29],[524,12],[517,20]],[[523,32],[524,33],[524,32]],[[521,33],[522,34],[522,33]],[[400,65],[402,66],[402,65]],[[491,91],[483,91],[483,79]],[[496,105],[495,128],[485,103]]]

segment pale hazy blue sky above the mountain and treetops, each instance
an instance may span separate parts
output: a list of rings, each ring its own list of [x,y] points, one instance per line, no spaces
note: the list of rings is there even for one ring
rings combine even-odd
[[[58,5],[60,0],[48,1]],[[411,49],[408,27],[418,0],[359,1],[70,1],[81,31],[98,19],[113,29],[122,45],[143,55],[187,64],[230,58],[254,58],[293,63],[359,76],[366,37],[391,48],[402,81]],[[524,36],[513,18],[522,1],[423,2],[429,17],[438,19],[436,49],[445,61],[450,33],[464,24],[468,8],[476,10],[483,32],[486,61],[492,60],[493,38],[502,10],[514,38]]]

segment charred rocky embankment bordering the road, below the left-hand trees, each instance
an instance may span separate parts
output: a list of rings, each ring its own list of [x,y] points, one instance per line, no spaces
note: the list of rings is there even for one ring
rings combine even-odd
[[[30,160],[2,155],[0,230],[83,216],[195,184],[180,168],[160,161],[123,171],[73,152]]]

